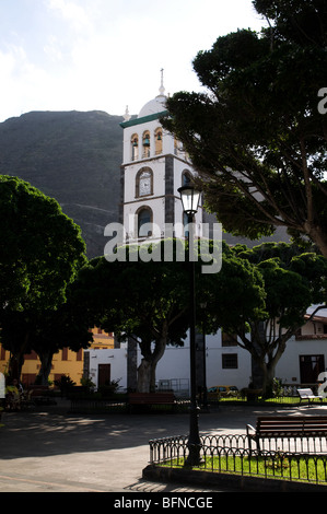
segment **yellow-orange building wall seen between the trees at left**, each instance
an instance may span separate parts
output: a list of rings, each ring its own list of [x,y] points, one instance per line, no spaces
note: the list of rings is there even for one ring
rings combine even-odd
[[[93,342],[90,348],[106,349],[114,348],[114,336],[113,334],[106,334],[102,329],[94,327],[92,328]],[[8,363],[10,359],[10,352],[4,350],[0,344],[0,372],[7,373]],[[68,348],[59,350],[55,353],[52,359],[51,372],[49,374],[49,381],[55,382],[60,379],[61,375],[69,375],[70,378],[81,384],[83,376],[84,365],[84,352],[81,349],[79,352],[73,352]],[[35,352],[25,355],[25,361],[22,369],[21,382],[23,385],[34,384],[35,377],[38,375],[40,369],[40,361]]]

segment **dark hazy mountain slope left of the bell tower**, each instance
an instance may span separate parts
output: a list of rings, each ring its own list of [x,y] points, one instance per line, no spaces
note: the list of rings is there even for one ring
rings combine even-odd
[[[0,174],[56,198],[81,226],[90,258],[103,255],[104,227],[118,221],[120,121],[102,112],[34,112],[0,124]]]

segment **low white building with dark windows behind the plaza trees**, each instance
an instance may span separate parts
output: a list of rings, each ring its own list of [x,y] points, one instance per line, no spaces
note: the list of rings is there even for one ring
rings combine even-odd
[[[199,352],[202,350],[199,349]],[[90,354],[90,377],[98,384],[98,369],[110,364],[110,378],[119,379],[121,389],[128,384],[128,346],[113,350],[84,350]],[[201,362],[201,359],[199,359]],[[137,349],[136,367],[141,362]],[[157,387],[172,387],[180,396],[189,393],[189,344],[182,348],[167,347],[156,367]],[[221,331],[206,337],[207,386],[235,385],[247,387],[252,377],[250,354],[238,346],[222,338]],[[276,376],[283,384],[316,384],[319,373],[327,371],[327,315],[315,316],[304,325],[287,343]]]

